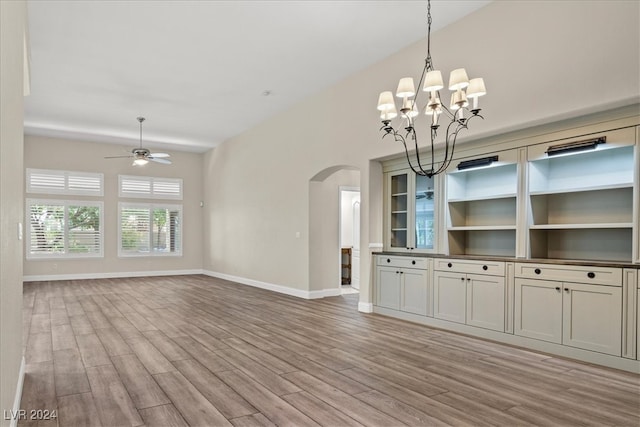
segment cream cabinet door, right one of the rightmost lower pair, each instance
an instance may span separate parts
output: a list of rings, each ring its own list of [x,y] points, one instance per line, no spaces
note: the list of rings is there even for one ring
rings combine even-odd
[[[622,288],[565,283],[562,343],[622,354]]]

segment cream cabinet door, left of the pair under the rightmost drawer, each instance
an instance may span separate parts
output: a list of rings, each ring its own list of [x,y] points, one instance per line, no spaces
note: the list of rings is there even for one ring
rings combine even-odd
[[[561,283],[516,279],[514,333],[562,343]]]

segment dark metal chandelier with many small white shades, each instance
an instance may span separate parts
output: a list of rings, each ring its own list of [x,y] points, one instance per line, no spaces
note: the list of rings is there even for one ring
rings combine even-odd
[[[419,115],[417,107],[418,92],[415,90],[413,78],[404,77],[400,79],[400,82],[398,83],[396,97],[402,99],[402,107],[400,108],[399,123],[396,125],[398,126],[397,128],[391,124],[392,119],[398,117],[398,110],[396,109],[396,104],[391,91],[380,93],[378,98],[378,110],[380,111],[380,118],[382,119],[382,127],[380,130],[384,130],[382,138],[392,135],[396,141],[401,142],[404,146],[407,162],[411,169],[418,175],[432,177],[444,172],[447,167],[449,167],[451,159],[453,158],[453,151],[455,149],[458,133],[462,129],[467,129],[469,121],[474,117],[484,119],[484,117],[480,115],[478,98],[485,95],[487,91],[482,78],[469,80],[465,69],[458,68],[451,71],[451,74],[449,75],[449,90],[452,91],[449,107],[440,101],[440,89],[444,88],[444,83],[442,80],[442,73],[434,69],[433,60],[431,59],[431,0],[427,2],[427,25],[427,58],[425,59],[422,76],[418,82],[418,88],[422,86],[422,90],[429,93],[429,101],[424,108],[424,113],[427,116],[431,116],[430,165],[422,164],[420,161],[420,152],[418,151],[418,135],[416,134],[415,129],[415,118]],[[469,109],[469,99],[473,102],[471,109]],[[467,117],[465,117],[465,112]],[[440,119],[442,114],[445,115],[445,119],[448,120],[448,123],[446,123],[444,159],[436,169],[434,145],[438,129],[440,128],[439,122],[445,120]],[[415,144],[417,165],[414,165],[411,162],[409,148],[407,147],[408,139],[413,140],[413,143]]]

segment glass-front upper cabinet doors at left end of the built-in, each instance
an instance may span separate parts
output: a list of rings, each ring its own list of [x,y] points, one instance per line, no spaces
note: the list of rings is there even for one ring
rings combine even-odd
[[[387,174],[387,236],[389,250],[433,250],[433,178],[412,171]]]

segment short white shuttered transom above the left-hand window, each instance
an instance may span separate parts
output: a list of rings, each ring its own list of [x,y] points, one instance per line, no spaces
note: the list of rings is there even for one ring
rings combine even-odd
[[[48,169],[27,169],[27,193],[103,196],[104,175]]]

